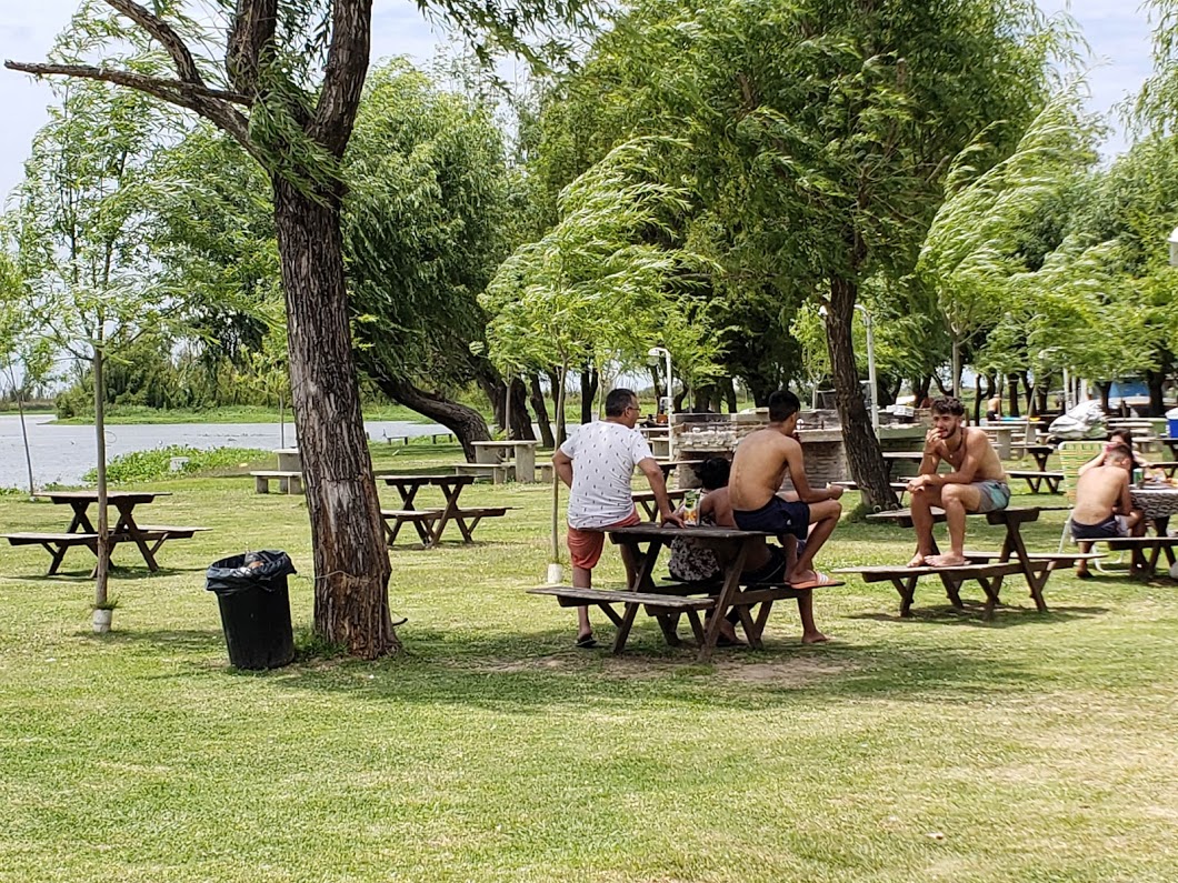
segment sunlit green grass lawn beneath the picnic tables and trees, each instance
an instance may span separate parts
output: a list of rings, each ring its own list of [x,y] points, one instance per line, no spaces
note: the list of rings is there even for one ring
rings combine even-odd
[[[640,617],[615,659],[523,593],[549,489],[477,485],[468,503],[518,509],[474,546],[392,551],[404,656],[243,673],[204,569],[287,550],[307,626],[304,503],[249,478],[153,487],[173,496],[151,522],[214,530],[165,545],[155,575],[119,549],[110,636],[90,633],[87,552],[47,579],[44,551],[0,547],[0,882],[1178,879],[1170,580],[1057,573],[1039,615],[1011,579],[986,624],[933,584],[900,620],[889,587],[851,579],[815,602],[830,645],[801,646],[782,605],[763,652],[701,666]],[[1032,549],[1061,518],[1030,526]],[[65,522],[7,497],[0,525]],[[978,526],[969,545],[999,542]],[[909,553],[902,530],[847,523],[820,564]],[[621,580],[611,550],[601,576]]]

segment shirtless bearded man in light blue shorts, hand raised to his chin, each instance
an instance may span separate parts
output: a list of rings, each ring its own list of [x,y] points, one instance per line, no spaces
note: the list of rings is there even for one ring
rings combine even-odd
[[[939,474],[937,466],[941,460],[953,470]],[[908,566],[966,564],[966,513],[1006,509],[1011,487],[990,438],[984,430],[965,425],[965,407],[955,398],[933,401],[933,429],[925,436],[925,457],[919,472],[908,482],[912,524],[916,529],[916,553]],[[933,506],[945,510],[949,529],[948,555],[933,555]]]

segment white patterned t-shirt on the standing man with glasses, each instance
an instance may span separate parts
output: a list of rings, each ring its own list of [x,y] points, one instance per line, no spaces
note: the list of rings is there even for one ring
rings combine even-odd
[[[581,426],[561,451],[573,460],[570,526],[607,527],[630,516],[634,467],[654,458],[641,432],[598,420]]]

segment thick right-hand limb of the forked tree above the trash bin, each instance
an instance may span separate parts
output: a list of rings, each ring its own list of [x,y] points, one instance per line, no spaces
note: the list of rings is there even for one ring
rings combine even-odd
[[[372,0],[335,0],[323,89],[307,134],[342,157],[356,121],[372,35]]]

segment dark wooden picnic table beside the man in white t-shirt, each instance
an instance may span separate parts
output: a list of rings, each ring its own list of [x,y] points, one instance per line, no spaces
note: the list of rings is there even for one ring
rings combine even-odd
[[[680,640],[676,632],[679,618],[687,616],[691,625],[700,652],[699,660],[707,662],[716,648],[720,637],[721,620],[729,611],[739,616],[749,644],[761,648],[761,636],[769,618],[769,611],[775,600],[796,598],[799,590],[785,584],[761,585],[744,583],[742,586],[744,563],[753,546],[772,536],[761,531],[741,531],[727,527],[667,527],[656,524],[636,524],[630,527],[607,529],[605,533],[617,545],[627,546],[637,564],[634,585],[624,591],[607,591],[601,589],[577,589],[574,586],[542,586],[530,590],[534,595],[551,595],[560,599],[562,606],[585,606],[596,604],[617,626],[614,638],[614,652],[626,649],[630,629],[637,616],[638,608],[659,620],[663,638],[671,646]],[[655,567],[660,552],[670,545],[676,537],[697,540],[715,550],[716,557],[723,562],[723,576],[715,583],[699,585],[694,583],[656,584]],[[646,550],[642,545],[646,544]],[[839,585],[832,583],[830,585]],[[809,591],[809,590],[806,590]],[[614,610],[615,604],[623,608],[622,615]],[[754,615],[754,609],[759,608]],[[704,625],[700,620],[700,611],[712,611],[712,618]]]

